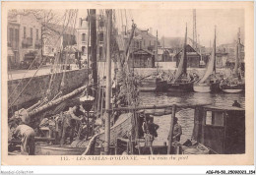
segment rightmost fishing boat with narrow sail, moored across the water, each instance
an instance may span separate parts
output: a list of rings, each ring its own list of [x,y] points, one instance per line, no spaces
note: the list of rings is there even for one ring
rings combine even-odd
[[[245,82],[244,79],[241,76],[241,71],[239,70],[240,64],[239,64],[239,56],[240,56],[240,29],[237,34],[237,41],[235,46],[235,65],[234,65],[234,74],[231,76],[231,78],[224,79],[220,87],[224,92],[227,93],[237,93],[241,92],[245,89]]]

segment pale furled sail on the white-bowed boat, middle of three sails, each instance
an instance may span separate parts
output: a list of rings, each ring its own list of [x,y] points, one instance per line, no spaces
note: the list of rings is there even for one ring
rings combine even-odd
[[[214,44],[213,44],[213,52],[212,52],[212,57],[208,63],[206,73],[204,77],[199,81],[200,84],[204,83],[213,72],[216,71],[216,29],[215,29],[215,39],[214,39]]]

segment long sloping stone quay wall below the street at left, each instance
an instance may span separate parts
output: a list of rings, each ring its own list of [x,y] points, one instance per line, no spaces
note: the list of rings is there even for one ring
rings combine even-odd
[[[63,92],[70,92],[87,83],[87,73],[87,69],[66,71]],[[51,87],[53,94],[59,92],[62,77],[63,72],[55,74]],[[32,81],[30,82],[31,79]],[[8,81],[8,105],[11,105],[16,100],[12,106],[14,109],[20,109],[28,107],[26,105],[32,101],[37,102],[37,100],[45,96],[50,79],[51,74]],[[26,87],[29,82],[30,84]],[[20,93],[21,95],[19,96]],[[19,98],[17,99],[18,96]]]

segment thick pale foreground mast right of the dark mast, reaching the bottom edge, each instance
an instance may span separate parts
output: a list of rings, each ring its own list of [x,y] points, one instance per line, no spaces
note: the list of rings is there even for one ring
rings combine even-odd
[[[111,94],[111,52],[110,52],[110,37],[112,27],[112,10],[106,11],[107,29],[106,29],[106,95],[105,95],[105,145],[104,153],[109,153],[110,145],[110,94]]]

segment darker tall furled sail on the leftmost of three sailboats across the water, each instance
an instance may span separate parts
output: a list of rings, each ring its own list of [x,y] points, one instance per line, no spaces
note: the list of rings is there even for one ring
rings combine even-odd
[[[187,53],[186,53],[186,46],[187,46],[187,27],[186,27],[186,33],[185,33],[185,40],[183,45],[183,52],[181,59],[178,64],[178,70],[175,74],[175,78],[172,80],[171,83],[175,83],[176,80],[182,75],[187,73]]]

